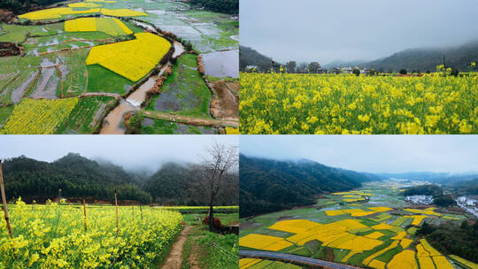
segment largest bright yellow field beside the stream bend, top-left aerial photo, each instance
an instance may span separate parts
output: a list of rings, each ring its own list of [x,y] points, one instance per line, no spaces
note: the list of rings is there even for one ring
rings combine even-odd
[[[166,39],[150,33],[135,34],[136,39],[93,47],[87,65],[99,64],[130,81],[150,72],[171,48]]]

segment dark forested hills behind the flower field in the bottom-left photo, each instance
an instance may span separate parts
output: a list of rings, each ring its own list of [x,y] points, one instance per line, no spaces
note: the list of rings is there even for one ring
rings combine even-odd
[[[119,200],[143,204],[149,204],[151,199],[166,205],[207,204],[191,165],[167,163],[157,172],[147,175],[138,170],[128,172],[109,161],[97,162],[76,153],[69,153],[51,163],[20,156],[5,159],[2,165],[8,200],[21,196],[27,202],[43,203],[61,196],[73,200],[85,197],[112,202],[116,188]],[[239,184],[235,181],[232,185],[220,192],[216,204],[238,203]]]

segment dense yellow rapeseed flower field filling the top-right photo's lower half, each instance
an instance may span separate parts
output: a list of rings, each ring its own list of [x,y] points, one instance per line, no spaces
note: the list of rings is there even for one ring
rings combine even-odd
[[[478,75],[241,73],[242,134],[478,134]]]

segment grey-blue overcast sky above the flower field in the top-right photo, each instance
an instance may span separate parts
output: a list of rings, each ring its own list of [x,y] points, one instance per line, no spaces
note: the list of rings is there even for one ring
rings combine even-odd
[[[373,60],[476,40],[475,0],[241,0],[241,45],[284,63]]]

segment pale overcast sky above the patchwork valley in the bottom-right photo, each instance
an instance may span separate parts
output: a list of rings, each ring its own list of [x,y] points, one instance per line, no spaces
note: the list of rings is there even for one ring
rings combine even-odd
[[[359,172],[478,172],[478,135],[241,135],[246,156]]]

